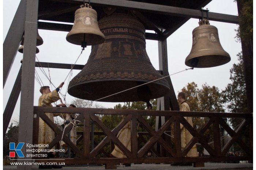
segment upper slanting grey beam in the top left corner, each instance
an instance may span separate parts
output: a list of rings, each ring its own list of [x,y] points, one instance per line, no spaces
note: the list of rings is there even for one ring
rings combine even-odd
[[[5,37],[3,44],[3,87],[11,70],[12,63],[17,54],[22,35],[26,16],[27,0],[21,0],[19,7],[12,20],[10,29]]]

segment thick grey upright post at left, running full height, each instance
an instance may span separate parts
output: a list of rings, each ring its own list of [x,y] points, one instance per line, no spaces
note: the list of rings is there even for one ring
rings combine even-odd
[[[19,162],[31,162],[32,154],[27,144],[33,142],[33,106],[34,106],[34,77],[35,77],[35,51],[37,38],[37,15],[38,0],[27,0],[25,39],[22,64],[21,95],[20,95],[20,118],[19,118],[19,142],[24,142],[22,152],[28,160]],[[31,169],[31,165],[18,165],[18,170]]]

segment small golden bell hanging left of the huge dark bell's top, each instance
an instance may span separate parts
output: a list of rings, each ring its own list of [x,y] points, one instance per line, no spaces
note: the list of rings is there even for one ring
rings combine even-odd
[[[75,12],[75,21],[71,31],[67,34],[69,43],[87,46],[101,44],[105,41],[103,33],[99,30],[97,12],[87,3]]]

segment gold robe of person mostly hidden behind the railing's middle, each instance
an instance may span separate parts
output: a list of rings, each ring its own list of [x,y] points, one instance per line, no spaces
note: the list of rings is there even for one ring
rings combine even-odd
[[[128,122],[124,127],[118,132],[117,138],[123,145],[131,151],[131,123]],[[127,158],[124,153],[115,145],[114,150],[111,153],[116,158]]]

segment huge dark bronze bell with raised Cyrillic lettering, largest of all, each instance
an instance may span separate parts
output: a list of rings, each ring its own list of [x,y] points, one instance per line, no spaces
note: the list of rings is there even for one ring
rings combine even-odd
[[[99,20],[99,28],[106,40],[92,46],[86,65],[69,83],[68,93],[102,102],[149,102],[165,95],[169,90],[165,79],[151,82],[163,76],[148,58],[143,24],[128,14],[113,13]],[[147,82],[151,83],[139,86]],[[139,87],[112,95],[135,86]]]

